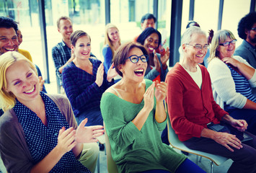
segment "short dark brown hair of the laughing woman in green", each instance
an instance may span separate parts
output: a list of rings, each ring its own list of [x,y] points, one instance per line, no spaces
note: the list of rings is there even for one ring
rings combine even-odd
[[[120,45],[119,48],[115,51],[115,55],[113,58],[115,71],[118,72],[118,74],[120,76],[123,76],[123,74],[119,70],[119,67],[120,67],[120,65],[125,64],[126,58],[128,58],[128,55],[132,48],[139,48],[139,49],[141,49],[142,53],[144,53],[144,55],[146,55],[146,56],[149,55],[146,48],[143,45],[141,45],[140,43],[128,42],[128,43],[124,43],[124,44]]]

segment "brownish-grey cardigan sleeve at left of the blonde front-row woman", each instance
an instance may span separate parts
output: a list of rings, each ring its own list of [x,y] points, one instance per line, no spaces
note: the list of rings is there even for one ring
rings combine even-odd
[[[14,112],[13,112],[14,113]],[[8,111],[0,120],[0,154],[7,172],[29,173],[33,167],[25,135],[17,118]],[[15,115],[16,116],[16,115]]]

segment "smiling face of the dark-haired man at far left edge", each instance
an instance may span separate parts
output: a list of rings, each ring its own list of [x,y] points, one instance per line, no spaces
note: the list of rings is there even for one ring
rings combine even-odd
[[[0,55],[8,51],[17,51],[19,43],[13,27],[0,28]]]

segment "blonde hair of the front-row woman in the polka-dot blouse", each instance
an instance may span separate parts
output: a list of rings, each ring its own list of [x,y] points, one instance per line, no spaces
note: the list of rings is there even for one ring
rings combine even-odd
[[[17,61],[25,61],[29,63],[30,68],[37,74],[35,65],[29,61],[25,56],[16,51],[9,51],[0,56],[0,107],[4,112],[6,110],[12,109],[16,104],[15,96],[12,92],[6,92],[7,81],[6,81],[6,71],[9,66],[16,63]]]

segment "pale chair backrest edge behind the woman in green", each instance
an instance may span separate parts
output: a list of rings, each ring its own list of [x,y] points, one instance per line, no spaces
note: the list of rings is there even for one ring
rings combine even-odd
[[[107,131],[105,128],[105,123],[104,124],[104,129],[105,129],[105,149],[107,153],[107,171],[110,173],[118,173],[118,167],[116,167],[115,161],[112,159],[111,155],[111,148],[110,148],[110,140],[107,136]]]

